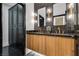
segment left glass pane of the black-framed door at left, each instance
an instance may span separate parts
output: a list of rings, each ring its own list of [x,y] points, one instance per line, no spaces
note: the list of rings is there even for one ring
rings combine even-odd
[[[9,45],[17,40],[17,6],[9,10]]]

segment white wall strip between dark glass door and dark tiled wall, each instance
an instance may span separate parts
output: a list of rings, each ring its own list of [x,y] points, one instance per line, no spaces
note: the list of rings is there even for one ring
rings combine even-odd
[[[33,15],[34,3],[26,3],[26,30],[34,30]]]

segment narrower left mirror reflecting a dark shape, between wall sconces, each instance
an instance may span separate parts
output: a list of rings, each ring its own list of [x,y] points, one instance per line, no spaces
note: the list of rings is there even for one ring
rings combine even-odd
[[[46,7],[38,9],[38,27],[46,26]]]

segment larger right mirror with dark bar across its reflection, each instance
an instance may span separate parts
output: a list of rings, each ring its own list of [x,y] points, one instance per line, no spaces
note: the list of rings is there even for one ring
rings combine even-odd
[[[66,25],[66,3],[55,3],[53,5],[53,25]]]

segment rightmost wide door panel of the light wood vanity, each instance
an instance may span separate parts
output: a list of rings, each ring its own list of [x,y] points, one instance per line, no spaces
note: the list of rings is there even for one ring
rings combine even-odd
[[[75,55],[75,40],[71,37],[58,37],[58,56]]]

